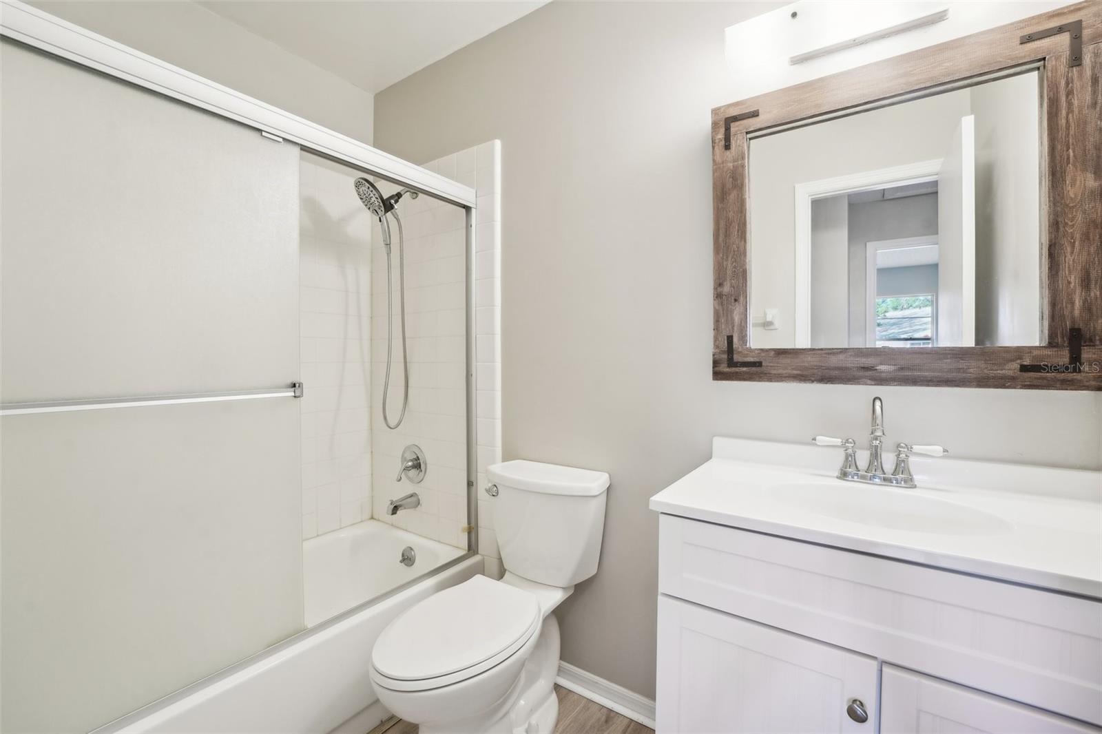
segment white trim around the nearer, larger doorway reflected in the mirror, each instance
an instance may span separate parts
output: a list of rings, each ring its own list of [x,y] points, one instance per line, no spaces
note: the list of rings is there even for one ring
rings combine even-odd
[[[811,202],[838,194],[855,194],[885,186],[906,186],[936,181],[940,170],[941,159],[938,158],[886,169],[861,171],[833,179],[806,181],[792,187],[796,211],[796,237],[793,240],[796,303],[792,314],[796,347],[811,346]]]

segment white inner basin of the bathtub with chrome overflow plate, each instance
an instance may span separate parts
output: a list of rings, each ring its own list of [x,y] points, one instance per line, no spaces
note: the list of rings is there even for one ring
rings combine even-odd
[[[404,548],[413,549],[413,565],[399,562]],[[311,538],[302,543],[306,626],[386,594],[464,552],[378,520]]]

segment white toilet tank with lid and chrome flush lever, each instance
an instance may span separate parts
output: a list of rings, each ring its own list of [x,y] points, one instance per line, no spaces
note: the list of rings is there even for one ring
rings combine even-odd
[[[605,530],[604,472],[512,461],[486,469],[494,530],[507,571],[549,586],[573,586],[597,572]]]

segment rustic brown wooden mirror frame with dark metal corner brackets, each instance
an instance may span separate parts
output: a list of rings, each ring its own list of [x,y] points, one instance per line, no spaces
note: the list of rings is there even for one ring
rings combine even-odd
[[[747,133],[1037,62],[1046,249],[1042,345],[749,345]],[[712,207],[712,379],[1102,390],[1102,1],[1087,0],[713,109]]]

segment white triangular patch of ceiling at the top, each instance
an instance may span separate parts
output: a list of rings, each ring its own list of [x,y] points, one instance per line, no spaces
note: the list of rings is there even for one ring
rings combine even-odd
[[[198,0],[207,10],[376,93],[548,0]]]

